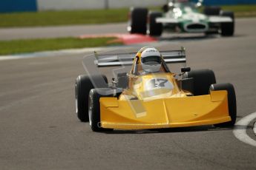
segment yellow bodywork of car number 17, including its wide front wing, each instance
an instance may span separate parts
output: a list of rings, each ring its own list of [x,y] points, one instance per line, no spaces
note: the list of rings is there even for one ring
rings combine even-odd
[[[137,56],[140,59],[140,53]],[[140,72],[140,61],[137,67]],[[160,129],[231,120],[226,90],[193,96],[183,92],[171,72],[138,75],[131,72],[128,89],[119,98],[100,98],[102,128]]]

